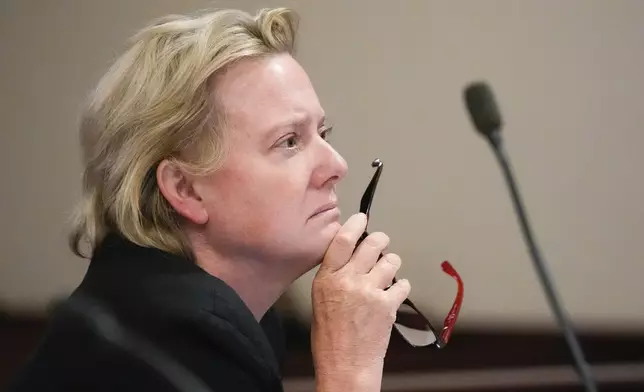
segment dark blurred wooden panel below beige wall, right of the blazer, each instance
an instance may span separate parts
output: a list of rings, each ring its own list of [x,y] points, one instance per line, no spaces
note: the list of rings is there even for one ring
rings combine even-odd
[[[308,331],[296,323],[287,324],[289,376],[312,374]],[[586,358],[593,364],[644,362],[644,331],[641,333],[580,334]],[[486,368],[524,368],[568,365],[568,346],[556,331],[459,330],[443,349],[414,348],[392,334],[385,361],[386,373]],[[644,392],[644,388],[642,389]]]

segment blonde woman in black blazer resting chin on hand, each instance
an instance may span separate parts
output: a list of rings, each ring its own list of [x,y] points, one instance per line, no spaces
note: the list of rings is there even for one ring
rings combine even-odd
[[[313,283],[317,391],[379,391],[409,294],[383,233],[339,222],[347,171],[294,59],[297,17],[219,10],[141,30],[83,115],[71,247],[87,274],[14,391],[281,391],[273,305]],[[355,252],[354,252],[355,250]]]

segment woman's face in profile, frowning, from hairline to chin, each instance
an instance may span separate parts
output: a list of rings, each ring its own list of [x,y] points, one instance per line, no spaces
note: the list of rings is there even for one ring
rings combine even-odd
[[[229,152],[221,169],[195,184],[208,218],[205,237],[222,256],[302,274],[340,228],[335,190],[347,172],[325,140],[313,86],[286,54],[241,61],[214,86]]]

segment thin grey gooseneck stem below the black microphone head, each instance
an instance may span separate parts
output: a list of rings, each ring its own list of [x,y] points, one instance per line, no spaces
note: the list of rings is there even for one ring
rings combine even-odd
[[[555,286],[552,283],[552,278],[550,277],[548,269],[546,268],[546,265],[541,258],[541,254],[534,240],[534,236],[528,222],[528,217],[523,206],[523,201],[519,193],[519,188],[516,184],[516,181],[514,180],[510,160],[505,152],[505,149],[503,148],[503,140],[501,138],[501,134],[497,130],[487,134],[486,139],[492,146],[495,156],[499,161],[499,164],[501,165],[506,184],[510,189],[510,193],[512,195],[514,209],[519,217],[523,237],[528,245],[528,249],[532,257],[532,262],[535,269],[537,270],[539,280],[546,293],[546,299],[548,300],[550,308],[554,312],[555,318],[563,329],[563,334],[572,353],[577,373],[581,377],[581,380],[587,392],[597,392],[597,386],[595,385],[595,381],[593,380],[590,366],[584,359],[584,354],[582,352],[581,346],[575,336],[575,333],[573,332],[570,321],[566,317],[563,307],[561,306],[557,298],[558,295]]]

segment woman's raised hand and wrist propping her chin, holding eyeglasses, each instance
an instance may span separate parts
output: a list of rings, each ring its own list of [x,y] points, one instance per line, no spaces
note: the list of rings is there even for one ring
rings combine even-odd
[[[408,281],[391,285],[401,259],[384,254],[386,234],[372,233],[355,248],[366,225],[364,214],[347,220],[313,280],[311,338],[318,392],[380,391],[396,311],[409,296]]]

